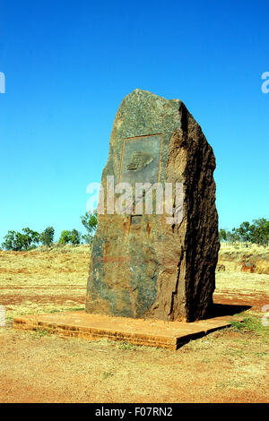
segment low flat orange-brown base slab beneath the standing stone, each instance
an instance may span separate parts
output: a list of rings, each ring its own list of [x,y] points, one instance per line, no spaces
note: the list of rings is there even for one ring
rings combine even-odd
[[[177,349],[190,339],[230,326],[230,316],[197,322],[165,322],[88,314],[84,311],[15,317],[17,330],[46,330],[58,335],[89,340],[110,339],[134,345]]]

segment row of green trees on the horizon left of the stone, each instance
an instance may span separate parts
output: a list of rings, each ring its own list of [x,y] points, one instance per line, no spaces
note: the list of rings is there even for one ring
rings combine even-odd
[[[76,229],[71,231],[64,230],[61,232],[58,243],[61,245],[71,244],[80,245],[82,243],[90,244],[92,242],[93,234],[97,227],[97,211],[86,212],[81,216],[83,227],[86,229],[86,234],[82,235]],[[22,250],[32,250],[38,245],[53,245],[55,229],[53,227],[46,228],[39,233],[30,228],[22,228],[22,232],[10,230],[4,236],[2,247],[4,250],[13,250],[19,252]]]

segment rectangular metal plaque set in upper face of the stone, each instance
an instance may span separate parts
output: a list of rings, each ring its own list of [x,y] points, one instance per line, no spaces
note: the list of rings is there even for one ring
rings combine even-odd
[[[158,183],[161,169],[161,134],[126,138],[119,183]]]

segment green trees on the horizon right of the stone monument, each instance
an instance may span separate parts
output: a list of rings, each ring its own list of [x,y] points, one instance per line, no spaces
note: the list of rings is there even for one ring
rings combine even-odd
[[[231,231],[221,228],[219,231],[221,241],[228,243],[242,242],[247,244],[269,244],[269,220],[265,218],[253,219],[252,223],[242,222],[239,228]]]

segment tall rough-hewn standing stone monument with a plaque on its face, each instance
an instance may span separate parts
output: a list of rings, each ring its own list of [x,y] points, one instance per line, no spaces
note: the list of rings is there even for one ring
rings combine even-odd
[[[206,317],[220,247],[214,168],[213,149],[181,100],[138,89],[123,99],[102,174],[86,312],[186,322]],[[145,211],[147,187],[136,197],[143,211],[134,203],[117,212],[119,191],[111,205],[108,180],[133,190],[137,183],[161,185],[165,210],[157,211],[160,196],[152,188],[153,211]]]

